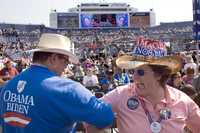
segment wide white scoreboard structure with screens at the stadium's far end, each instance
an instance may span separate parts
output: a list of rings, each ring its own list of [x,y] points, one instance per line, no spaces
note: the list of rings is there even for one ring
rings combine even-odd
[[[126,3],[83,3],[66,13],[52,11],[50,27],[65,28],[129,28],[155,25],[155,13],[151,9],[138,12]]]

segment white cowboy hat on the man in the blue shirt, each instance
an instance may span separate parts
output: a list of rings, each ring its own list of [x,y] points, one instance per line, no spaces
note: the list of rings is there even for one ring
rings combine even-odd
[[[71,63],[79,63],[79,59],[71,51],[71,41],[68,37],[44,33],[42,34],[36,49],[31,50],[32,52],[51,52],[66,55],[69,57]]]

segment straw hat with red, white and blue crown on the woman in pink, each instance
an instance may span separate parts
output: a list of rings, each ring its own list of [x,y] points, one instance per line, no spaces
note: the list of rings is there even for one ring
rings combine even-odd
[[[165,52],[164,45],[155,45],[155,42],[153,46],[150,43],[148,45],[140,43],[135,46],[131,55],[118,57],[116,65],[123,69],[134,69],[142,65],[161,65],[170,68],[171,73],[176,73],[181,69],[181,58],[178,56],[166,56]]]

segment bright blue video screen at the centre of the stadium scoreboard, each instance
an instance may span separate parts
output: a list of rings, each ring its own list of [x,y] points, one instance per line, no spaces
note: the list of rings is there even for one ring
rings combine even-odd
[[[128,27],[128,14],[81,14],[81,28]]]

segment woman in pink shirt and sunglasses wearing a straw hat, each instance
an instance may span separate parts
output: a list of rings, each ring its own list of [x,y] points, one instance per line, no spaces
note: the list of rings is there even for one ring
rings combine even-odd
[[[125,55],[116,64],[134,69],[133,84],[118,87],[102,98],[117,114],[120,133],[183,133],[186,125],[193,133],[200,133],[197,104],[166,84],[168,77],[180,70],[178,57],[150,59]],[[90,126],[87,129],[98,132]]]

